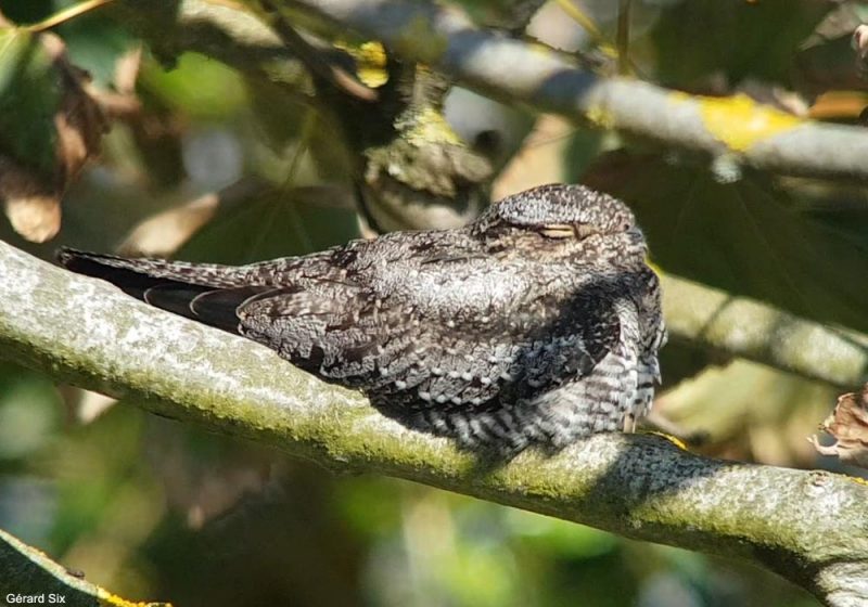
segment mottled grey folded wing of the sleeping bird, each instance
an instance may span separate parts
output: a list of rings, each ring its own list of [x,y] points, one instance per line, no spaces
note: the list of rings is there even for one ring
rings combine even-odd
[[[558,300],[535,292],[533,276],[472,251],[450,246],[448,256],[434,248],[371,264],[368,253],[356,254],[329,280],[308,273],[247,300],[238,312],[242,333],[304,369],[417,410],[531,398],[590,374],[620,336],[611,298]]]

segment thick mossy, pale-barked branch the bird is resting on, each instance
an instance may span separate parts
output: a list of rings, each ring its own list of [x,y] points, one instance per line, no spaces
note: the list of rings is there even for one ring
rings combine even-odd
[[[0,356],[330,468],[375,472],[746,559],[828,605],[868,600],[868,488],[608,435],[508,466],[384,418],[248,340],[161,312],[0,243]]]

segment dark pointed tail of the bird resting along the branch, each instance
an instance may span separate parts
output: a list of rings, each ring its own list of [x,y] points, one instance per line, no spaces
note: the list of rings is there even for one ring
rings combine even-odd
[[[238,333],[238,308],[273,287],[251,285],[244,267],[164,259],[127,259],[62,248],[58,261],[68,270],[102,279],[157,308]]]

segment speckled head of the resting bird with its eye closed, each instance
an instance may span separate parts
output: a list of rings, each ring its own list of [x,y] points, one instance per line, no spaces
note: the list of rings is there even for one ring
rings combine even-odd
[[[533,248],[554,258],[644,257],[646,244],[623,202],[584,185],[540,185],[488,207],[470,227],[493,249]]]

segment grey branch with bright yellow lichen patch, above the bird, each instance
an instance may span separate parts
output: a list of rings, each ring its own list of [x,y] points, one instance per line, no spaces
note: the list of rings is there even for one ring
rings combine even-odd
[[[580,118],[604,128],[732,155],[789,175],[868,180],[868,132],[801,120],[748,98],[707,99],[626,78],[601,78],[566,55],[475,28],[434,2],[284,0],[308,18],[350,27],[405,57],[429,63],[461,85],[501,100]]]

